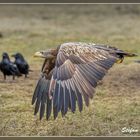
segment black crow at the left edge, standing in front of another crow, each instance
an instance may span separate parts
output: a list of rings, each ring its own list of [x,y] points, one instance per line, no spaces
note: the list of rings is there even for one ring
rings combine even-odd
[[[10,61],[10,58],[7,53],[2,54],[2,61],[0,63],[0,70],[4,75],[4,79],[6,80],[6,76],[13,76],[13,80],[15,76],[21,76],[17,66]]]

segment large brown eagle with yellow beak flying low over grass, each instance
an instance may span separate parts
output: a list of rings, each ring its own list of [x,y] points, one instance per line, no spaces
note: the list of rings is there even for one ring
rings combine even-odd
[[[68,42],[34,56],[45,59],[32,97],[34,115],[39,112],[41,120],[45,114],[48,120],[52,112],[54,119],[59,112],[62,117],[68,110],[74,113],[77,106],[81,112],[113,64],[136,55],[108,45]]]

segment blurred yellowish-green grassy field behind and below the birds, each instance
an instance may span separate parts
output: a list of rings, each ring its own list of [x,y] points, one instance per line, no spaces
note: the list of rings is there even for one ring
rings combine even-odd
[[[40,121],[31,105],[43,63],[36,51],[82,41],[140,55],[140,5],[0,5],[0,32],[0,55],[21,52],[33,70],[15,81],[0,73],[0,136],[140,136],[140,56],[115,64],[82,113]]]

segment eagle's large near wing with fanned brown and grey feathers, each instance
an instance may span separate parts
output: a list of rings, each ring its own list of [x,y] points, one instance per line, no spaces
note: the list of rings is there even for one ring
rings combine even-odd
[[[95,87],[107,70],[116,62],[114,49],[95,44],[65,43],[60,46],[50,82],[49,94],[53,95],[54,118],[68,108],[83,109],[83,99],[89,105]]]

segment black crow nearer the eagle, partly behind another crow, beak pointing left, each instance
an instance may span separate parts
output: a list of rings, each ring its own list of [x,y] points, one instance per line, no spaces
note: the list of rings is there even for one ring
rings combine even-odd
[[[14,64],[18,67],[21,74],[25,75],[25,78],[29,74],[29,65],[27,61],[24,59],[23,55],[21,53],[13,54],[12,57],[15,58]]]

